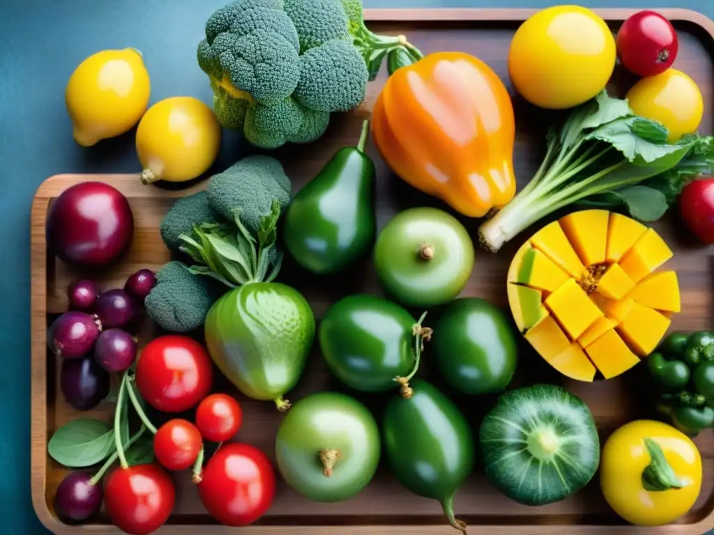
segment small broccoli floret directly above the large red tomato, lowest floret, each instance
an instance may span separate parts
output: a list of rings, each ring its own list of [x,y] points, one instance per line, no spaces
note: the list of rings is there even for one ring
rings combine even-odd
[[[156,272],[156,286],[144,300],[146,313],[163,329],[190,332],[206,320],[213,303],[228,287],[206,275],[193,275],[173,260]]]

